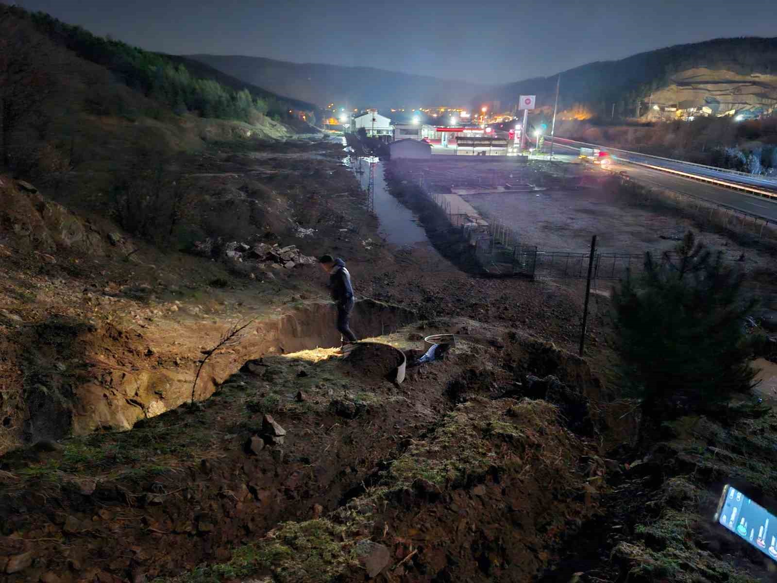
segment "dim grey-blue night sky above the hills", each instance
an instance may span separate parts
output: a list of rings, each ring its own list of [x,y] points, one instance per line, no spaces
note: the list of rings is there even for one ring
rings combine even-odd
[[[9,0],[5,0],[9,2]],[[173,54],[246,54],[510,82],[654,48],[777,34],[768,0],[301,2],[19,0],[99,35]]]

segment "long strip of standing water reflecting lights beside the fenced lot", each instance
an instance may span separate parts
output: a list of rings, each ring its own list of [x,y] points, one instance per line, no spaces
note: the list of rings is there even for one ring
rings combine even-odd
[[[350,156],[343,162],[356,173],[365,196],[370,182],[370,163],[375,164],[375,215],[380,222],[378,232],[387,243],[402,246],[427,242],[427,234],[418,224],[413,211],[389,193],[389,187],[383,177],[383,162],[377,158],[356,159]],[[361,162],[361,173],[359,162]]]

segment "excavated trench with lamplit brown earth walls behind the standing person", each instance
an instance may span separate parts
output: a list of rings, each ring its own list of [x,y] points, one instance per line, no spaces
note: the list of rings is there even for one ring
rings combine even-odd
[[[199,361],[182,361],[163,350],[157,354],[148,338],[110,325],[40,324],[27,332],[31,348],[25,365],[45,374],[25,387],[29,414],[20,441],[129,429],[192,398],[207,399],[246,361],[340,346],[335,319],[333,304],[316,301],[257,320],[238,341],[207,359],[194,388]],[[359,337],[377,337],[415,320],[411,310],[362,299],[354,307],[351,327]],[[197,324],[176,333],[196,335]]]

